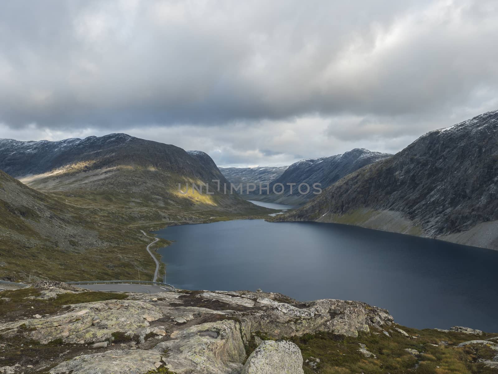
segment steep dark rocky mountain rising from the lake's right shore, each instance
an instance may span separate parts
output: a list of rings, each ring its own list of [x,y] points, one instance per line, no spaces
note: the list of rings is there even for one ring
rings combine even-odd
[[[498,111],[429,132],[272,220],[348,223],[498,249]]]

